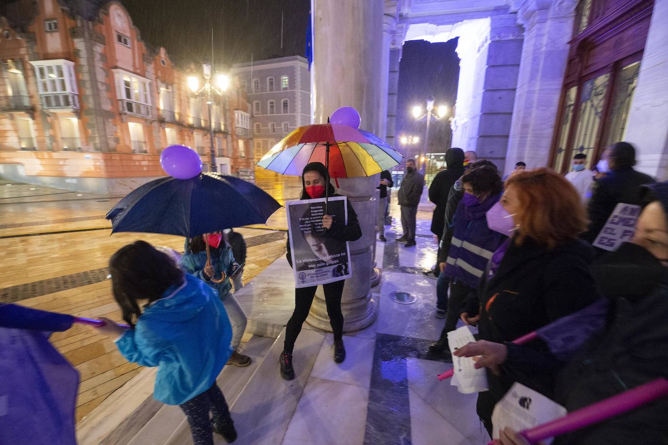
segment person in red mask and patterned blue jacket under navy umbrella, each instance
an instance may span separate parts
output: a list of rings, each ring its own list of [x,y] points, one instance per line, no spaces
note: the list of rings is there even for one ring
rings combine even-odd
[[[204,238],[208,240],[211,265],[206,266],[206,244]],[[234,353],[228,363],[236,366],[248,366],[251,364],[251,357],[239,353],[241,337],[246,330],[248,318],[241,308],[239,302],[234,298],[230,289],[232,283],[230,278],[237,277],[242,273],[242,268],[234,261],[232,248],[227,242],[223,233],[208,233],[201,237],[186,239],[185,253],[180,261],[180,266],[188,273],[198,277],[204,283],[212,287],[222,301],[222,304],[230,317],[232,323],[232,349]],[[218,279],[225,274],[225,279],[216,283]]]

